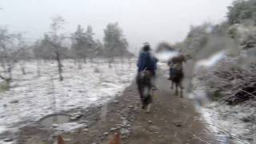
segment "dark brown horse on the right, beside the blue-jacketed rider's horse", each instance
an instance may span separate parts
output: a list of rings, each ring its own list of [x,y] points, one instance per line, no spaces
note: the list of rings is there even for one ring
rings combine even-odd
[[[171,58],[168,62],[168,66],[170,66],[170,78],[171,89],[174,89],[175,85],[175,94],[178,95],[178,89],[180,89],[180,96],[183,97],[182,94],[182,80],[184,78],[183,73],[183,62],[186,62],[186,58],[183,54],[179,54],[178,56]]]

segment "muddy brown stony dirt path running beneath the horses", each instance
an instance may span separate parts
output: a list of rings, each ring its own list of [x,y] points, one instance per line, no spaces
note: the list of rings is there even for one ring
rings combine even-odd
[[[82,111],[78,123],[81,128],[70,132],[26,126],[21,130],[20,143],[50,144],[62,134],[67,144],[106,144],[116,129],[122,134],[122,144],[200,144],[207,143],[210,134],[200,124],[200,115],[191,100],[174,96],[170,82],[160,77],[158,90],[150,114],[141,110],[136,85],[126,88],[121,96],[106,105],[90,107]],[[212,139],[212,138],[210,138]],[[217,143],[217,142],[210,142]]]

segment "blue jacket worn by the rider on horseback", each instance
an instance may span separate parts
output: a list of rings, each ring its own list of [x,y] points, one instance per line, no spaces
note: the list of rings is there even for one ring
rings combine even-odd
[[[151,57],[149,51],[142,51],[138,57],[138,72],[142,70],[156,70],[156,58]]]

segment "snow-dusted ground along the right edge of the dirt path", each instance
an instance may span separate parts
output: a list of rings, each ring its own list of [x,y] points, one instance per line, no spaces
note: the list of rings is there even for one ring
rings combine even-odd
[[[202,114],[202,120],[215,133],[214,136],[220,143],[226,144],[232,141],[249,144],[254,141],[255,123],[243,121],[244,118],[250,118],[255,114],[252,102],[244,102],[237,106],[228,106],[225,102],[210,102],[206,89],[198,78],[193,79],[193,86],[190,98],[195,100],[195,106]]]

